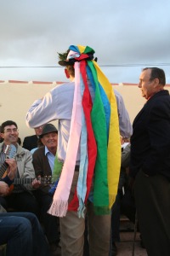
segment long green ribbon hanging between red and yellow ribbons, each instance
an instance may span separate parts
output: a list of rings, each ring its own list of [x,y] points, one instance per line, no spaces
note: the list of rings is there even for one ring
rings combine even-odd
[[[97,159],[94,170],[94,209],[96,214],[107,214],[109,210],[109,189],[107,180],[107,128],[105,109],[100,96],[97,73],[92,61],[88,61],[94,78],[95,96],[91,113],[94,136],[97,143]]]

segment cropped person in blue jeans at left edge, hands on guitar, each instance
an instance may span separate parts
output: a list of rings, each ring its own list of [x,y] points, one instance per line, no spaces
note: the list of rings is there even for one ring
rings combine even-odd
[[[0,181],[0,196],[8,190],[17,172],[16,161],[7,159],[7,176]],[[31,212],[5,212],[0,205],[0,245],[7,244],[6,255],[48,256],[48,243],[37,217]]]

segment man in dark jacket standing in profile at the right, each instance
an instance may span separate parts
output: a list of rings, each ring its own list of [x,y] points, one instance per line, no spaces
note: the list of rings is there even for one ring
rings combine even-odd
[[[149,256],[170,255],[170,96],[165,73],[146,67],[139,88],[147,102],[133,121],[130,174],[139,228]]]

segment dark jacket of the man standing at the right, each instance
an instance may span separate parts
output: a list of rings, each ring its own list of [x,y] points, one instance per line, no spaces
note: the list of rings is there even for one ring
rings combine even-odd
[[[152,96],[133,121],[130,175],[139,169],[170,178],[170,96],[161,90]]]

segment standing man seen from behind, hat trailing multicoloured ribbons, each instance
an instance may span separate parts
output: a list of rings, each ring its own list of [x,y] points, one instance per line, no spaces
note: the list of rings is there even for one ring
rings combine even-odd
[[[62,256],[83,255],[85,213],[90,256],[108,256],[121,163],[116,97],[94,49],[71,45],[59,58],[71,83],[57,85],[26,114],[32,128],[59,120],[57,160],[63,168],[55,170],[59,183],[48,213],[62,217]]]

